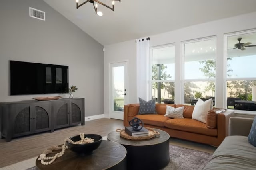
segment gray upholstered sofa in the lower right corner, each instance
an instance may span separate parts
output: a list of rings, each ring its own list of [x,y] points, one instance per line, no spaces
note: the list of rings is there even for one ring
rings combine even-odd
[[[248,142],[253,119],[230,117],[229,136],[203,170],[256,170],[256,147]]]

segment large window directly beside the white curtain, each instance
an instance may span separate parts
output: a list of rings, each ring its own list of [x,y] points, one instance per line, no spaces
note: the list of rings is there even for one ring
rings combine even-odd
[[[156,98],[158,103],[174,103],[174,45],[152,47],[150,55],[152,59],[152,98]]]

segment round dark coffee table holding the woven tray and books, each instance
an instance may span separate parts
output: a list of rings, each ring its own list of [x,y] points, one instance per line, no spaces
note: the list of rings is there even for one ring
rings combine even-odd
[[[122,144],[127,150],[128,170],[159,170],[170,162],[169,134],[160,129],[159,137],[146,140],[130,140],[120,137],[119,132],[110,132],[109,141]]]

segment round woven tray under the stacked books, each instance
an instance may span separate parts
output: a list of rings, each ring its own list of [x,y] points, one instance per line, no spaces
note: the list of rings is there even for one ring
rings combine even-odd
[[[144,139],[151,139],[153,137],[159,137],[160,133],[158,131],[155,131],[152,128],[145,127],[148,129],[148,136],[130,136],[128,135],[124,129],[116,129],[117,132],[120,132],[120,136],[126,139],[131,139],[131,140],[144,140]]]

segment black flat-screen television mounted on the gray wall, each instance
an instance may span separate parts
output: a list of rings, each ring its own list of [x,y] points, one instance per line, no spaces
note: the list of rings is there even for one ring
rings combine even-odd
[[[10,61],[10,95],[68,93],[68,66]]]

